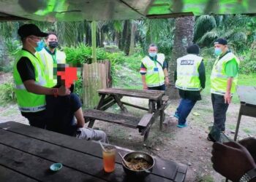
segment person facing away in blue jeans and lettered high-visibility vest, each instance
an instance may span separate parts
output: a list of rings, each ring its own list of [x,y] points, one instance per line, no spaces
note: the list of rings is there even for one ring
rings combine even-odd
[[[201,100],[200,91],[206,85],[206,69],[203,58],[198,56],[199,50],[197,44],[193,44],[187,47],[188,55],[177,59],[175,80],[181,102],[174,116],[178,118],[177,127],[180,128],[187,127],[187,116],[197,100]]]

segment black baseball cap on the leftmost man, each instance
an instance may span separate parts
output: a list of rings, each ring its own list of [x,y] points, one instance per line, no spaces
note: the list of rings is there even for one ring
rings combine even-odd
[[[21,37],[21,39],[27,37],[27,36],[39,36],[39,37],[45,37],[48,36],[48,33],[44,33],[40,31],[40,29],[37,27],[37,25],[34,24],[25,24],[20,26],[18,29],[18,35]]]

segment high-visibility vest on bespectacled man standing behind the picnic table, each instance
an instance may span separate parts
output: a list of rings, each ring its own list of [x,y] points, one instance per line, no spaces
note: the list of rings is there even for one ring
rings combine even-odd
[[[162,70],[164,61],[164,54],[157,54],[157,60],[151,60],[148,56],[141,60],[146,67],[146,84],[148,87],[158,87],[165,84],[165,74]]]

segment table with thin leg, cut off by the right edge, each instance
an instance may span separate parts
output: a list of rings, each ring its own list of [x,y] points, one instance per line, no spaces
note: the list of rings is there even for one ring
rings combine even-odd
[[[238,114],[238,121],[236,124],[236,132],[234,141],[237,139],[241,116],[256,117],[256,87],[252,86],[238,86],[238,96],[240,98],[240,110]]]

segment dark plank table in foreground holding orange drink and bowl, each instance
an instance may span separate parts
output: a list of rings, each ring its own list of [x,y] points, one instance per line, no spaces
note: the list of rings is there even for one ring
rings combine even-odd
[[[105,173],[99,143],[79,140],[57,132],[42,130],[18,122],[0,124],[0,181],[61,181],[61,182],[134,182],[124,173],[116,155],[116,170]],[[129,149],[116,146],[126,154]],[[145,182],[184,181],[187,166],[154,157],[155,165]],[[58,172],[50,165],[61,162]]]

